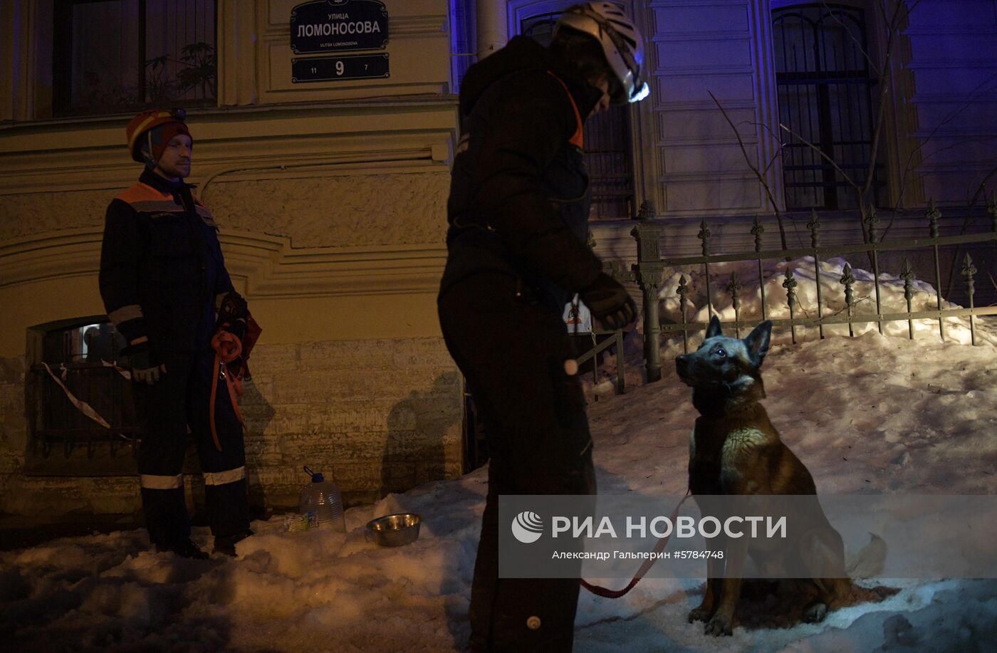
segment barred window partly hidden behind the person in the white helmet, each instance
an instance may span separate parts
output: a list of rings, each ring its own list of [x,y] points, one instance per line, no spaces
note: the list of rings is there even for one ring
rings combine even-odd
[[[519,33],[550,43],[560,12],[523,19]],[[585,121],[585,166],[592,189],[593,220],[633,217],[633,169],[630,163],[630,110],[613,105]]]

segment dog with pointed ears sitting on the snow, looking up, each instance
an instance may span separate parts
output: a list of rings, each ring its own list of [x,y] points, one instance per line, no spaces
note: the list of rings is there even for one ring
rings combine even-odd
[[[693,388],[693,406],[700,413],[689,443],[689,489],[703,515],[719,517],[724,494],[813,496],[812,502],[804,499],[805,521],[794,521],[789,540],[782,543],[721,534],[714,548],[724,550],[724,558],[709,558],[703,602],[689,613],[690,621],[706,622],[706,634],[731,634],[746,554],[761,569],[806,570],[810,578],[804,582],[817,586],[817,598],[803,614],[806,621],[823,620],[852,588],[841,536],[818,501],[814,479],[780,440],[759,402],[766,396],[760,368],[771,336],[772,322],[766,320],[743,340],[724,337],[714,316],[702,346],[676,359],[679,378]],[[850,568],[881,567],[884,556],[885,545],[873,536]]]

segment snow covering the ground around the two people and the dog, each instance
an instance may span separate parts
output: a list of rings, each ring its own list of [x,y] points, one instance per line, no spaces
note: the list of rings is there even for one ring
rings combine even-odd
[[[813,263],[789,265],[808,308]],[[863,277],[860,270],[855,275]],[[822,265],[824,300],[838,309],[839,277],[838,261]],[[886,299],[902,301],[902,283],[884,279],[891,284]],[[770,316],[785,301],[781,282],[780,276],[767,284]],[[743,319],[749,319],[760,313],[760,300],[757,287],[745,286]],[[694,311],[705,315],[697,292]],[[860,297],[870,292],[856,287]],[[919,287],[918,300],[933,307],[929,288]],[[723,308],[724,300],[717,301]],[[981,323],[977,347],[962,344],[968,342],[963,320],[948,325],[952,340],[946,343],[938,341],[937,322],[920,325],[915,340],[907,339],[905,323],[887,336],[870,325],[854,340],[801,332],[805,342],[798,345],[777,333],[764,367],[766,407],[819,491],[997,493],[997,337]],[[628,359],[639,352],[639,334],[628,339],[627,350]],[[666,347],[660,383],[635,387],[639,375],[631,371],[623,396],[606,394],[605,383],[590,388],[598,398],[589,416],[601,492],[685,491],[695,412],[690,390],[671,366],[680,352],[681,341]],[[280,517],[255,522],[257,534],[239,543],[236,560],[156,554],[144,531],[0,553],[0,637],[7,650],[23,651],[459,651],[469,634],[485,491],[486,473],[479,470],[392,494],[348,510],[346,533],[283,532]],[[424,516],[416,542],[380,548],[366,539],[368,519],[398,511]],[[195,529],[194,539],[210,545],[206,529]],[[727,638],[706,637],[701,623],[686,622],[699,604],[702,578],[645,579],[616,600],[582,591],[575,650],[997,648],[997,580],[876,578],[867,584],[900,591],[832,612],[821,624],[737,627]]]

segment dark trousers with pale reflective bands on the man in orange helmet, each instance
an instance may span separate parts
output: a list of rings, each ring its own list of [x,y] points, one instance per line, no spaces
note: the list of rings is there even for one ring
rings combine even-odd
[[[166,374],[158,383],[133,386],[142,433],[139,475],[149,538],[168,547],[190,537],[182,475],[187,429],[204,476],[211,533],[215,537],[245,533],[249,528],[245,447],[223,380],[218,381],[214,404],[220,452],[211,438],[208,403],[211,378],[217,374],[214,354],[171,354],[164,362]]]

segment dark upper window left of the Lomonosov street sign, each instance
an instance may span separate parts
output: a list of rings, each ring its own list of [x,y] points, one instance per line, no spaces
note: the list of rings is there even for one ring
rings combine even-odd
[[[215,104],[215,0],[57,0],[56,116]]]

